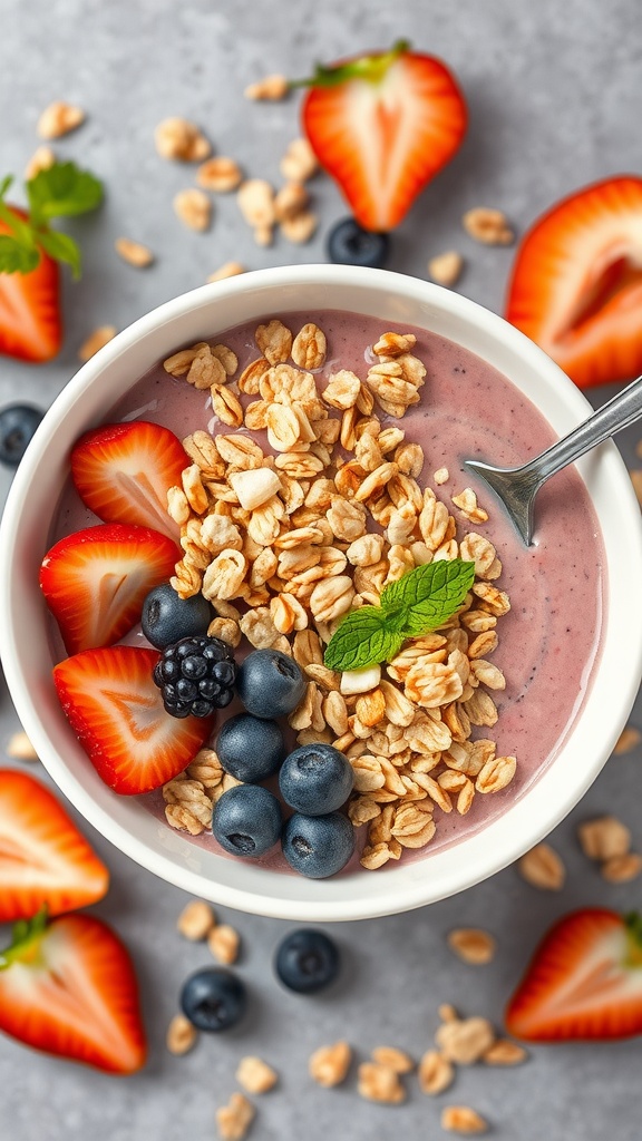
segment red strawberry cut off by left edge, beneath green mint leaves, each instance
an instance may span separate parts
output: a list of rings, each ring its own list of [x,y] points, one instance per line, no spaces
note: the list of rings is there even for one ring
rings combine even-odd
[[[24,210],[7,208],[21,220]],[[11,230],[0,218],[0,235]],[[61,273],[43,250],[31,273],[0,273],[0,353],[21,361],[49,361],[63,340]]]

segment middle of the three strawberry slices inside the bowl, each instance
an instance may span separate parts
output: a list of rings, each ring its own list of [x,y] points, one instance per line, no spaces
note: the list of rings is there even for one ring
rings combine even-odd
[[[171,539],[150,527],[110,523],[61,539],[45,556],[40,585],[67,653],[123,638],[179,557]]]

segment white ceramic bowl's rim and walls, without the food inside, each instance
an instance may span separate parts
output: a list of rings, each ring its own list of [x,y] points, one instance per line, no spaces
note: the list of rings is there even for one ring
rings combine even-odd
[[[7,682],[22,723],[56,784],[117,848],[157,875],[212,901],[290,920],[385,915],[462,891],[545,836],[595,779],[623,729],[642,672],[642,532],[631,480],[612,444],[579,469],[608,560],[601,657],[584,711],[545,774],[498,819],[434,856],[384,873],[329,880],[267,872],[191,843],[136,799],[98,778],[61,711],[38,568],[69,472],[70,447],[159,358],[266,314],[337,308],[425,326],[476,353],[513,382],[563,435],[589,412],[553,362],[500,317],[448,290],[383,270],[344,266],[265,269],[206,285],[126,329],[66,386],[16,474],[0,531],[0,630]]]

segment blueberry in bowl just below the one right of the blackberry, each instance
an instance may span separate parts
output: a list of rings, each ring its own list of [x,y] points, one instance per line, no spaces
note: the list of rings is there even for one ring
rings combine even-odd
[[[220,729],[216,752],[225,771],[236,780],[258,784],[276,772],[286,755],[286,746],[275,721],[239,713]]]

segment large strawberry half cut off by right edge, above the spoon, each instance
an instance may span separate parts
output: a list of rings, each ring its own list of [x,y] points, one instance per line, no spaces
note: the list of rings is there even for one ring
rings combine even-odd
[[[642,372],[642,179],[571,194],[523,238],[506,317],[579,388]]]

